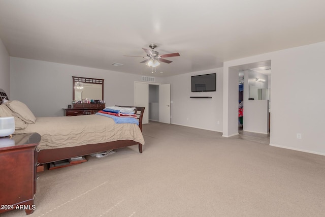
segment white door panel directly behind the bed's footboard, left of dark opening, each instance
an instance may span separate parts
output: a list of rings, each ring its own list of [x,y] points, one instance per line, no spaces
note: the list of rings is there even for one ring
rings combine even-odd
[[[149,123],[149,85],[146,83],[134,84],[134,105],[145,107],[142,123]]]

